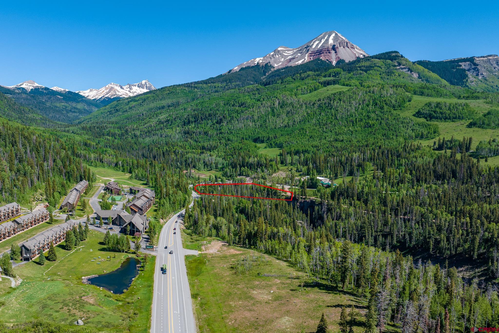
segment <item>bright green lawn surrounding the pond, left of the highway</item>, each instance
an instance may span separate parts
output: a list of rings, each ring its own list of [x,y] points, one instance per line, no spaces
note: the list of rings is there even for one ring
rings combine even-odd
[[[154,256],[150,257],[146,270],[140,271],[122,295],[81,283],[83,276],[116,270],[125,258],[133,256],[105,251],[101,243],[103,236],[100,232],[90,231],[88,239],[80,244],[82,247],[71,254],[63,246],[57,246],[56,262],[47,261],[40,266],[36,259],[14,268],[14,273],[23,282],[16,289],[6,291],[0,285],[1,321],[13,325],[40,319],[67,325],[69,329],[74,327],[73,322],[84,318],[85,327],[102,332],[148,332]],[[112,258],[114,255],[116,258]],[[96,264],[97,261],[90,261],[98,256],[111,256],[111,260],[100,265]]]

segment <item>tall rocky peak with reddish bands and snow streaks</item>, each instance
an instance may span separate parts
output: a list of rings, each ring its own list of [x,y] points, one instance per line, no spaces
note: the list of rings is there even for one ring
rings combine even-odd
[[[270,63],[274,68],[295,66],[307,61],[321,58],[331,62],[333,65],[340,59],[345,61],[363,58],[368,54],[337,31],[326,31],[296,48],[279,46],[267,55],[254,58],[237,65],[230,71],[238,71],[243,67],[256,65],[258,63]]]

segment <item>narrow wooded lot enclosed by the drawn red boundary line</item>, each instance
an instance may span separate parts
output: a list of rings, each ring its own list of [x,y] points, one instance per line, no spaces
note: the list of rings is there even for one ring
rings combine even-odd
[[[267,200],[293,200],[293,192],[255,183],[198,184],[194,190],[200,195],[252,198]]]

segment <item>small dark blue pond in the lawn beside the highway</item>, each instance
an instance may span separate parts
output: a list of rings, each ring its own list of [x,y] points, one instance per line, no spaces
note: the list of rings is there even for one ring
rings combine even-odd
[[[113,294],[123,294],[124,290],[130,287],[133,279],[139,274],[139,266],[140,260],[129,257],[116,271],[90,278],[88,283],[105,288]]]

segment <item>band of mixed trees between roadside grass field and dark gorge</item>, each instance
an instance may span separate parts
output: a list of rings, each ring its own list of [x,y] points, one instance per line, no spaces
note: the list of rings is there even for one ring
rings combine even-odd
[[[329,223],[309,219],[300,205],[304,202],[202,196],[186,211],[185,223],[199,236],[266,252],[326,284],[365,297],[366,333],[382,332],[387,324],[398,325],[404,333],[499,325],[499,299],[493,286],[464,281],[447,264],[443,268],[431,262],[414,264],[412,257],[398,250],[351,243],[355,232],[341,226],[331,232]],[[327,206],[319,209],[326,216]],[[343,214],[355,219],[352,210]]]

